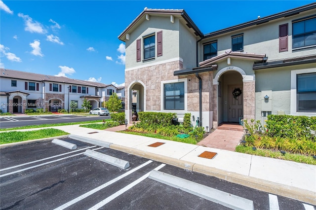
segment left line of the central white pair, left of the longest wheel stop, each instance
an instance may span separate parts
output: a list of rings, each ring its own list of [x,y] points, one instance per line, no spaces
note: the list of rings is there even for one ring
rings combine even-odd
[[[93,193],[96,193],[96,192],[102,190],[103,188],[109,186],[110,184],[113,184],[114,182],[118,181],[119,179],[122,179],[122,178],[124,178],[125,176],[130,175],[130,174],[136,172],[137,170],[143,168],[144,166],[147,166],[148,164],[150,164],[150,163],[152,163],[152,162],[153,162],[152,160],[149,160],[149,161],[147,161],[146,163],[144,163],[144,164],[142,164],[142,165],[136,167],[135,169],[132,169],[132,170],[126,172],[125,174],[122,174],[122,175],[120,175],[120,176],[118,176],[118,177],[112,179],[111,181],[108,181],[108,182],[106,182],[106,183],[104,183],[104,184],[98,186],[97,188],[94,188],[93,190],[90,190],[89,192],[86,192],[86,193],[84,193],[83,195],[81,195],[81,196],[79,196],[79,197],[77,197],[77,198],[75,198],[75,199],[73,199],[73,200],[67,202],[66,204],[64,204],[64,205],[62,205],[62,206],[56,208],[55,210],[64,210],[64,209],[66,209],[67,207],[70,207],[71,205],[73,205],[73,204],[75,204],[75,203],[81,201],[82,199],[84,199],[84,198],[86,198],[86,197],[92,195]]]

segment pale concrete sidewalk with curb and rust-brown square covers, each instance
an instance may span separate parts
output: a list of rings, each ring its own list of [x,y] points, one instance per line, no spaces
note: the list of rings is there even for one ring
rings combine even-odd
[[[112,149],[316,205],[315,165],[182,142],[89,129],[79,127],[79,125],[53,128],[100,142],[111,142],[110,148]],[[124,130],[125,125],[119,129]],[[148,146],[156,142],[162,142],[163,144],[158,147]],[[203,152],[217,154],[212,159],[199,157]]]

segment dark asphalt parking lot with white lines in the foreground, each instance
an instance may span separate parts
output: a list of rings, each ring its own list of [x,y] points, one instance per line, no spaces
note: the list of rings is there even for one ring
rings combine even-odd
[[[227,203],[252,201],[258,210],[312,210],[315,207],[281,196],[193,173],[157,161],[73,139],[76,149],[44,141],[1,149],[0,209],[231,209],[209,199],[212,189]],[[129,162],[127,169],[84,154],[90,149]],[[163,175],[156,180],[155,173]],[[172,179],[169,184],[163,181]],[[166,178],[164,178],[166,177]],[[171,180],[171,179],[170,179]],[[198,195],[181,188],[194,184]],[[171,185],[176,186],[171,186]],[[221,194],[223,193],[223,194]]]

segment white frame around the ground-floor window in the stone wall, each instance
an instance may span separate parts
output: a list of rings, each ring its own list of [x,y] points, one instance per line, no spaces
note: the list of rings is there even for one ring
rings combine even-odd
[[[164,84],[168,83],[178,83],[178,82],[184,82],[184,109],[164,109],[164,97],[163,97],[163,87]],[[173,80],[165,80],[161,81],[160,83],[160,110],[164,112],[176,112],[176,113],[186,113],[188,111],[188,79],[182,78],[182,79],[173,79]]]

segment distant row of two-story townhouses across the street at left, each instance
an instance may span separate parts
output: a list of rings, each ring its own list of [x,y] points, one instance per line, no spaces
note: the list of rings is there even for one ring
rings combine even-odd
[[[44,108],[45,111],[70,109],[72,101],[81,109],[86,99],[92,108],[101,106],[101,99],[109,86],[98,82],[71,79],[25,71],[0,69],[0,109],[2,112],[25,113],[26,109]],[[120,89],[121,91],[121,89]],[[124,98],[122,98],[124,100]]]

